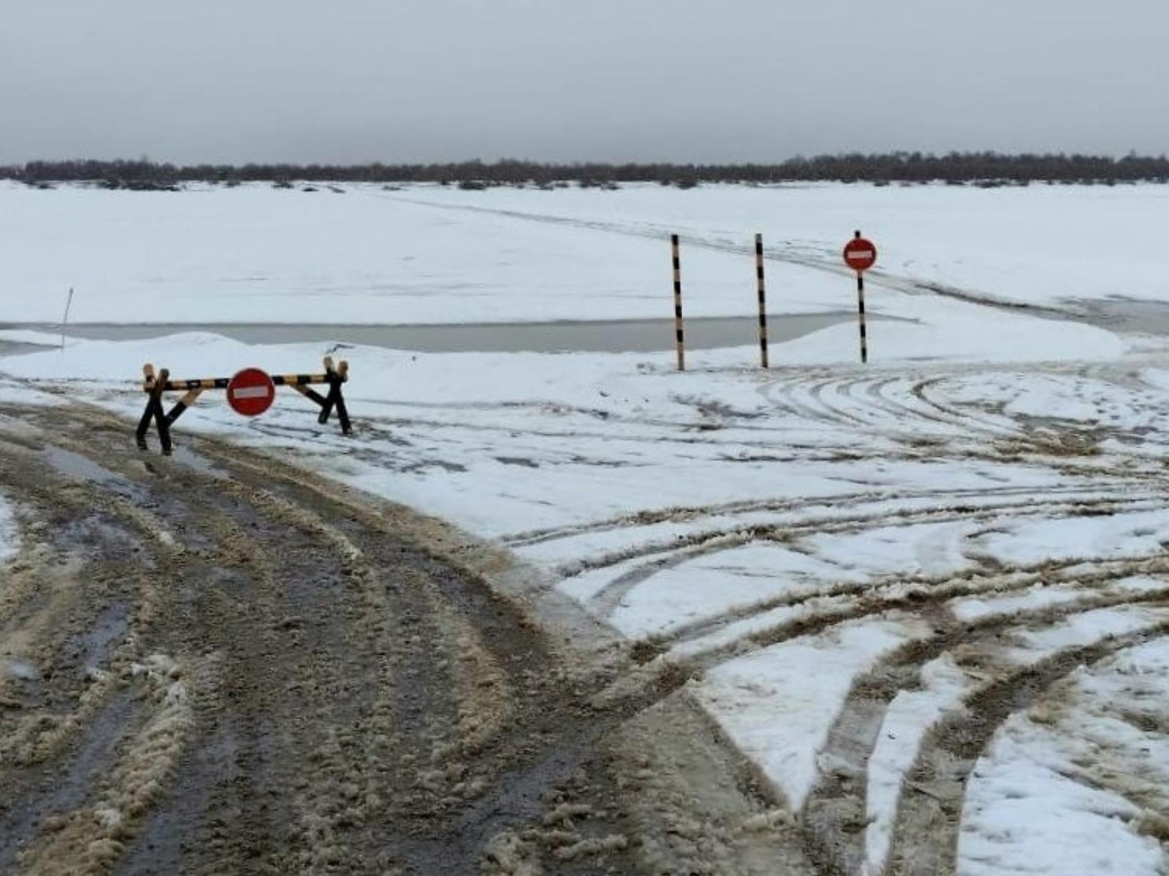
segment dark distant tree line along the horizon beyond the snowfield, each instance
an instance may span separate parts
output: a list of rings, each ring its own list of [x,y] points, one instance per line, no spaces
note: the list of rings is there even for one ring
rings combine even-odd
[[[677,165],[677,164],[539,164],[500,160],[493,164],[462,161],[430,165],[187,165],[138,161],[29,161],[23,166],[0,166],[0,179],[30,186],[54,182],[96,182],[108,188],[175,188],[184,182],[227,186],[264,181],[285,187],[296,182],[375,182],[383,185],[437,182],[462,188],[489,186],[539,186],[575,183],[613,188],[623,182],[657,182],[690,188],[704,182],[747,185],[773,182],[872,182],[876,185],[941,181],[952,185],[1005,186],[1049,183],[1167,182],[1169,159],[1130,153],[1108,155],[1022,154],[996,152],[921,152],[887,154],[849,153],[797,157],[770,165]]]

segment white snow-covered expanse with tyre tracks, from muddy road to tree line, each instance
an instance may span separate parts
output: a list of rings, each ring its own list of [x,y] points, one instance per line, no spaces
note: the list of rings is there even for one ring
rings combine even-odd
[[[4,197],[13,194],[26,196]],[[228,294],[214,276],[235,257],[230,248],[220,262],[180,263],[172,242],[152,269],[155,279],[167,265],[189,269],[170,298],[133,279],[148,265],[108,250],[108,276],[118,279],[105,305],[92,293],[98,308],[82,318],[140,306],[143,319],[159,321],[151,308],[166,300],[166,319],[198,311],[202,321],[200,290],[229,303],[224,321],[268,313],[257,304],[265,296],[319,305],[316,321],[580,318],[581,290],[590,292],[589,319],[659,315],[667,230],[692,237],[684,271],[692,265],[694,311],[739,313],[752,277],[733,250],[756,224],[783,217],[803,235],[788,253],[804,263],[769,264],[776,307],[838,310],[852,287],[829,262],[851,206],[877,217],[865,230],[888,242],[873,306],[905,321],[872,333],[867,368],[855,363],[855,326],[842,325],[774,347],[769,371],[739,348],[696,354],[685,374],[669,354],[407,354],[202,333],[61,350],[57,338],[0,332],[0,341],[44,345],[0,360],[0,408],[67,394],[133,417],[145,361],[202,377],[253,364],[304,371],[326,352],[345,356],[352,438],[318,426],[290,392],[254,420],[201,398],[177,438],[215,433],[292,454],[507,545],[545,586],[636,642],[648,669],[692,679],[686,694],[755,760],[831,871],[877,876],[926,862],[929,872],[964,876],[1165,872],[1169,809],[1157,771],[1169,725],[1157,702],[1169,637],[1169,349],[975,303],[985,292],[1072,311],[1079,305],[1065,296],[1169,297],[1155,271],[1126,262],[1155,251],[1136,225],[1163,203],[1163,189],[685,194],[167,194],[205,204],[240,197],[241,222],[255,199],[267,204],[254,215],[263,228],[277,197],[324,204],[305,210],[327,213],[334,230],[348,222],[344,211],[373,221],[388,210],[403,239],[413,228],[419,248],[447,252],[451,273],[409,296],[397,280],[374,290],[350,274],[297,285],[304,263],[350,253],[336,264],[362,265],[392,251],[355,232],[327,243],[339,248],[328,257],[291,246],[281,260],[274,243],[276,279]],[[774,224],[760,221],[765,206]],[[411,225],[424,216],[435,225]],[[295,224],[271,220],[285,221]],[[1097,229],[1100,245],[1068,245],[1080,239],[1077,223],[1107,224]],[[468,244],[475,258],[451,255],[441,229],[468,239],[482,231]],[[206,232],[207,252],[216,239]],[[559,258],[537,255],[547,246],[577,253],[570,278],[552,279]],[[251,260],[256,250],[245,250],[235,252]],[[623,269],[610,273],[643,258],[636,281]],[[23,264],[27,277],[49,270]],[[422,284],[423,273],[401,276]],[[964,300],[914,285],[922,278],[960,286]],[[535,294],[545,283],[547,294]],[[5,300],[6,317],[55,318],[36,311],[35,296]],[[381,315],[389,303],[400,315]]]

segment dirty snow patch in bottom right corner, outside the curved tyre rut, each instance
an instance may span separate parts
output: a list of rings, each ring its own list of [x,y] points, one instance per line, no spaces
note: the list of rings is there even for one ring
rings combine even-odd
[[[1012,715],[974,769],[959,874],[1164,874],[1167,703],[1158,639],[1079,669],[1043,711]]]

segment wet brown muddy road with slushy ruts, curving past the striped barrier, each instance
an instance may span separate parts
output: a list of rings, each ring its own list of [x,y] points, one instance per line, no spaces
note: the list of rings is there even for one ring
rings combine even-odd
[[[0,489],[0,874],[805,871],[684,677],[437,521],[82,406]]]

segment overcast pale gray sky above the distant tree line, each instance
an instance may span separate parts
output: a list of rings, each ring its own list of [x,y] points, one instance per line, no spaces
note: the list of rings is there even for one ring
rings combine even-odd
[[[0,0],[0,161],[1169,151],[1167,0]]]

